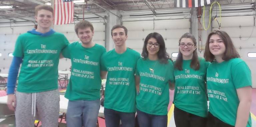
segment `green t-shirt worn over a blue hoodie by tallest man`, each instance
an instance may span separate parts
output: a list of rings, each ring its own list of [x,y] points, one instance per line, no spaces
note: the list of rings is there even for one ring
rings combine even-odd
[[[68,43],[58,32],[46,37],[21,34],[13,52],[13,56],[23,58],[17,91],[33,93],[58,89],[60,52]]]

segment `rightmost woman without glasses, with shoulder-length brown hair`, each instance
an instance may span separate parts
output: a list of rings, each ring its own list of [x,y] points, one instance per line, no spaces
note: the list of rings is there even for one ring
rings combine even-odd
[[[204,57],[207,69],[209,113],[207,127],[251,127],[252,78],[229,35],[208,35]]]

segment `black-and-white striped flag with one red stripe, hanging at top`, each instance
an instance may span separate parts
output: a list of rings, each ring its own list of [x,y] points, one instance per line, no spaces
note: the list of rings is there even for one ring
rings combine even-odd
[[[210,4],[214,0],[174,0],[174,7],[192,8]]]

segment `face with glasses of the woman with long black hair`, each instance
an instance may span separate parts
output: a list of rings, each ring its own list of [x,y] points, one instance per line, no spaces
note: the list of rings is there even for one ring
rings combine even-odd
[[[151,55],[151,56],[157,55],[159,49],[160,49],[160,45],[159,43],[157,43],[157,40],[155,38],[148,39],[148,42],[147,42],[148,55]]]

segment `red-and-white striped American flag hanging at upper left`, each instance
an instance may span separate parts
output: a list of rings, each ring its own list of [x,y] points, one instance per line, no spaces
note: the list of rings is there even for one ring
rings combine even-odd
[[[54,25],[69,24],[74,21],[73,0],[54,1]]]

